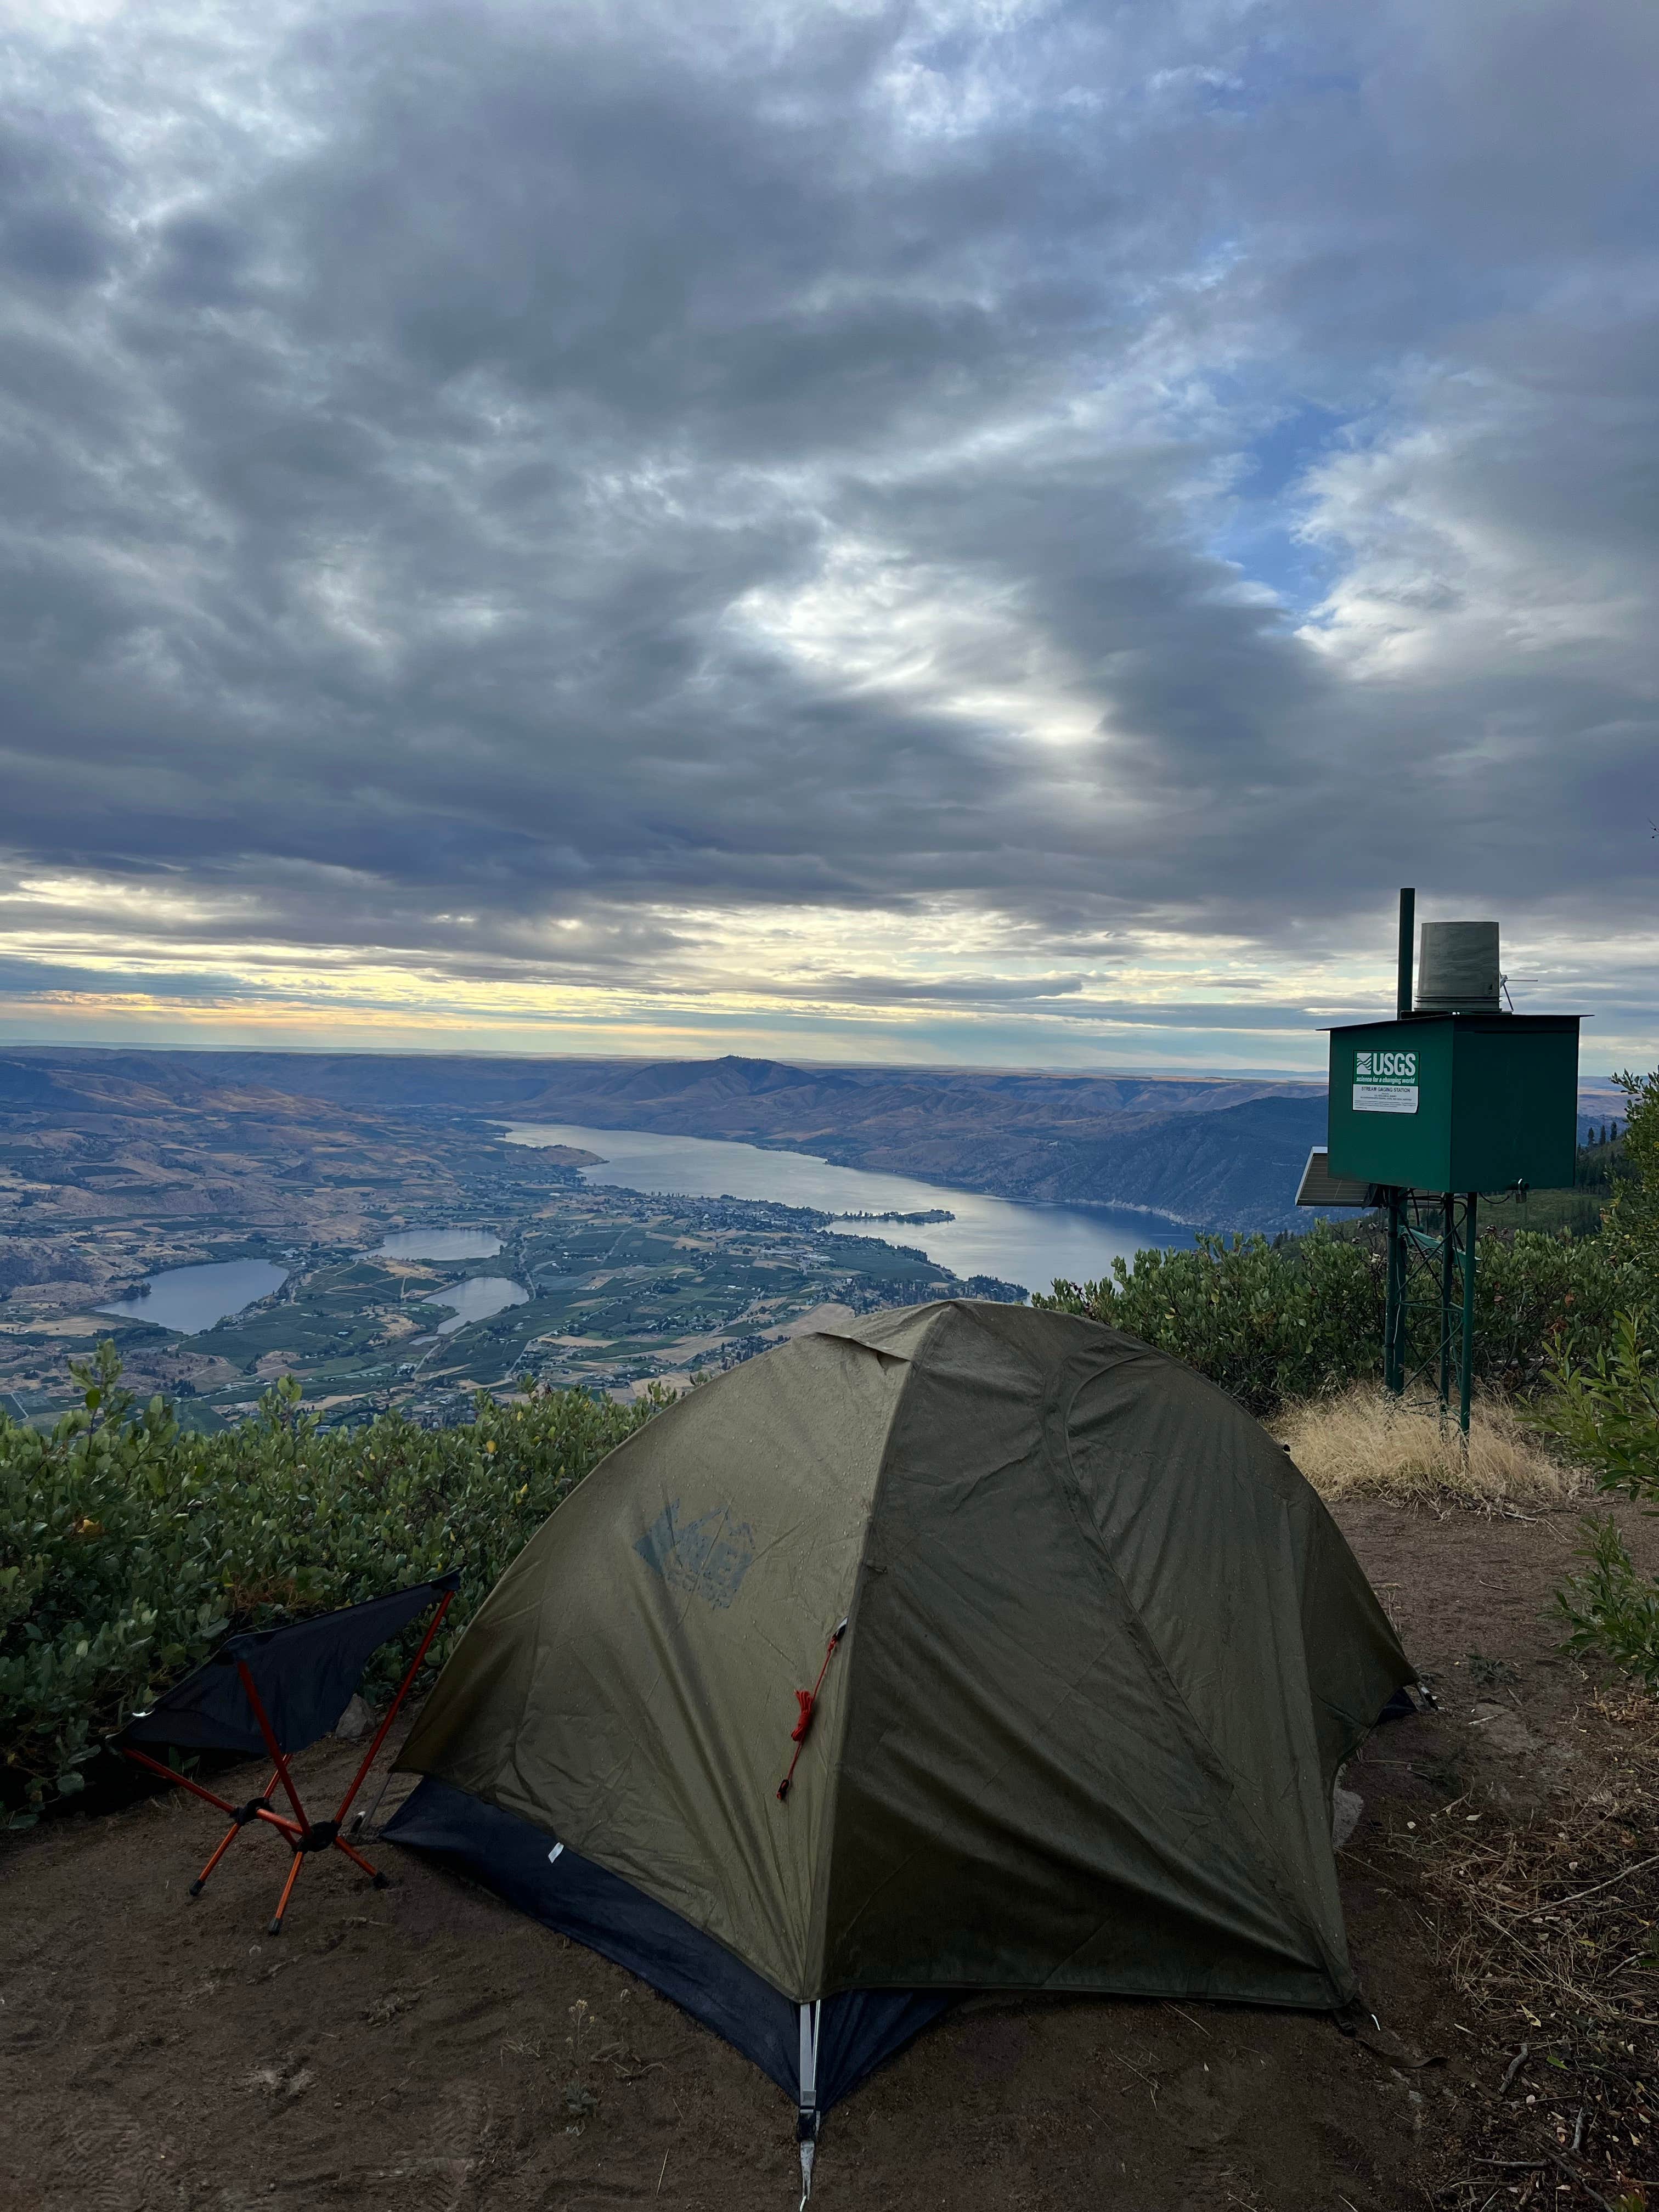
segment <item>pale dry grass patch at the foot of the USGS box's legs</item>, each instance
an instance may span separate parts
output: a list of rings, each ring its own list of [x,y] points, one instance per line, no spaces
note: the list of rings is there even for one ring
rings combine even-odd
[[[1340,1398],[1285,1407],[1272,1429],[1321,1498],[1502,1513],[1571,1504],[1593,1486],[1491,1398],[1473,1409],[1467,1453],[1455,1420],[1442,1433],[1433,1402],[1400,1405],[1363,1383]]]

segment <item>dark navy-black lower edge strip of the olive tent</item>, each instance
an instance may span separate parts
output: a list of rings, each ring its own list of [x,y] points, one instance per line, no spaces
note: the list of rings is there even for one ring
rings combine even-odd
[[[637,1973],[801,2101],[801,2008],[679,1913],[544,1829],[465,1790],[422,1781],[385,1827],[493,1889],[518,1911]],[[849,1989],[818,2013],[816,2106],[827,2112],[951,2004],[920,1991]]]

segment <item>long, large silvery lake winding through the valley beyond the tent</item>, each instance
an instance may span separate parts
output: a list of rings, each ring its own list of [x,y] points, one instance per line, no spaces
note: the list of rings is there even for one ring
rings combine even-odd
[[[1192,1230],[1157,1214],[1110,1206],[1020,1206],[978,1190],[918,1183],[909,1175],[836,1168],[812,1152],[768,1152],[717,1137],[657,1137],[644,1128],[575,1128],[568,1121],[513,1121],[504,1135],[509,1144],[566,1144],[599,1152],[602,1166],[582,1168],[582,1179],[622,1190],[772,1199],[830,1214],[916,1214],[947,1206],[956,1221],[849,1221],[845,1234],[911,1245],[956,1274],[998,1274],[1026,1290],[1046,1292],[1055,1276],[1095,1283],[1119,1252],[1192,1243]]]

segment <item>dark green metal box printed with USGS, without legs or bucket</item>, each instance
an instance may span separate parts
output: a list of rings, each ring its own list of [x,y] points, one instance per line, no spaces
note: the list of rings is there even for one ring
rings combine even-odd
[[[1562,1190],[1575,1013],[1411,1013],[1332,1031],[1329,1172],[1407,1190]]]

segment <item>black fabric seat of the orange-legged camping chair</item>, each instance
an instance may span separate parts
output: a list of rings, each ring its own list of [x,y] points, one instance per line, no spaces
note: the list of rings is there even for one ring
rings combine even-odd
[[[265,1739],[237,1666],[246,1661],[279,1750],[283,1756],[303,1752],[345,1712],[372,1655],[458,1582],[460,1575],[438,1575],[436,1582],[418,1582],[392,1597],[369,1597],[361,1606],[341,1606],[305,1621],[226,1637],[212,1659],[204,1659],[146,1712],[135,1712],[111,1736],[111,1747],[119,1752],[126,1745],[164,1743],[190,1752],[261,1756]]]

